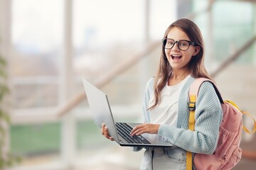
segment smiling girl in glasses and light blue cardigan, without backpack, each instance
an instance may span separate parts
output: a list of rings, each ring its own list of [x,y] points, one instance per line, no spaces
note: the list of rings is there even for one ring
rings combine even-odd
[[[174,145],[146,148],[140,169],[185,170],[186,151],[215,151],[223,111],[213,85],[204,82],[198,92],[195,131],[188,130],[189,87],[196,78],[211,79],[204,67],[201,31],[192,21],[179,19],[167,28],[162,42],[159,69],[146,84],[144,124],[137,125],[131,135],[158,134]],[[102,135],[112,140],[105,125]],[[134,147],[134,151],[140,149]]]

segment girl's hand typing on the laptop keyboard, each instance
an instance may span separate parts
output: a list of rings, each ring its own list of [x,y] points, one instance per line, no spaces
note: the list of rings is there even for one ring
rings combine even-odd
[[[158,124],[142,124],[137,125],[133,128],[132,132],[130,133],[132,136],[134,135],[142,135],[142,133],[151,133],[157,134],[160,125]]]

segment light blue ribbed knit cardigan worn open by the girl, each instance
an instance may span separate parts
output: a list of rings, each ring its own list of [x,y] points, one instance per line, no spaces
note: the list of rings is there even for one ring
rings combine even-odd
[[[178,120],[176,126],[163,124],[158,135],[166,137],[178,147],[194,153],[213,154],[218,142],[218,130],[223,111],[215,89],[210,82],[204,82],[198,93],[195,113],[195,131],[188,130],[189,87],[195,79],[190,77],[181,90],[178,99]],[[154,93],[154,78],[149,79],[143,101],[143,120],[150,123],[149,98]],[[142,147],[134,147],[139,151]]]

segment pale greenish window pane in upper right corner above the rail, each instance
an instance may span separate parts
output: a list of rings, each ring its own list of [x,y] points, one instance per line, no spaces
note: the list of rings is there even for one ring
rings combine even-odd
[[[218,1],[215,3],[213,11],[215,14],[215,55],[217,60],[223,61],[225,57],[232,55],[252,38],[253,6],[244,2]],[[219,11],[225,12],[220,13]],[[250,54],[250,52],[242,55],[246,54]],[[252,61],[252,58],[249,58],[247,64]],[[238,62],[245,62],[245,60],[240,57]]]

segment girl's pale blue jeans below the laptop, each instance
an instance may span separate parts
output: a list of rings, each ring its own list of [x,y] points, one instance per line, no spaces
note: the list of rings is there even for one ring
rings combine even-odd
[[[149,147],[140,170],[186,170],[186,151],[180,147]]]

